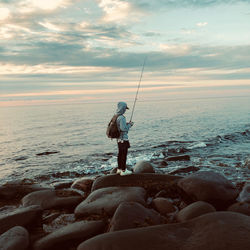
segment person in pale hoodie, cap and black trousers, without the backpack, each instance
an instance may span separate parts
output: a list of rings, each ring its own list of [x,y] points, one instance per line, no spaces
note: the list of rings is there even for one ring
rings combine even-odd
[[[132,172],[126,168],[126,161],[127,161],[128,148],[130,148],[128,131],[133,126],[134,123],[132,121],[128,123],[126,122],[124,113],[126,112],[127,109],[129,108],[125,102],[118,102],[116,111],[116,115],[118,117],[116,120],[116,124],[118,130],[120,131],[120,136],[117,139],[117,145],[118,145],[117,174],[120,175],[132,174]]]

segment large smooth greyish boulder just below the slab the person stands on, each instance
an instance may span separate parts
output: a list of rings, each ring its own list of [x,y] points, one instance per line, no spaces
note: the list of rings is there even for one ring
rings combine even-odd
[[[92,192],[75,209],[76,217],[86,215],[113,215],[124,201],[134,201],[145,205],[146,191],[141,187],[107,187]]]

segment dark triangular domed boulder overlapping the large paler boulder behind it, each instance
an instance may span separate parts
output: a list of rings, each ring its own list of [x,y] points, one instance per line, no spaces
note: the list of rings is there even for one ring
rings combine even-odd
[[[164,222],[165,218],[153,209],[145,208],[137,202],[123,202],[115,211],[109,231],[159,225]]]

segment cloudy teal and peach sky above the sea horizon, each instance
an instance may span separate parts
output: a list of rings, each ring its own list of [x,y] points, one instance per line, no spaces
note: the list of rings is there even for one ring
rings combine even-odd
[[[250,96],[250,0],[0,0],[0,106]]]

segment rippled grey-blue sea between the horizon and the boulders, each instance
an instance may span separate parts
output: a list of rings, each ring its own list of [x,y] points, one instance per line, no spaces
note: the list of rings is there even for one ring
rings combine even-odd
[[[249,97],[138,102],[128,165],[188,154],[191,161],[157,171],[198,166],[244,181],[249,178],[244,168],[250,156],[249,107]],[[116,167],[116,141],[105,134],[115,109],[116,103],[0,108],[0,183],[52,183]],[[130,115],[131,110],[128,120]]]

